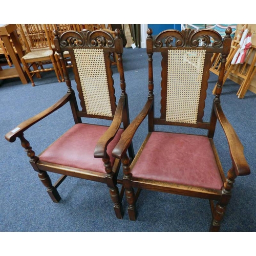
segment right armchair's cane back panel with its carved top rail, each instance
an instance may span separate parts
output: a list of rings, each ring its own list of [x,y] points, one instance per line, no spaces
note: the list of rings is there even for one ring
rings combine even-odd
[[[210,59],[222,51],[221,36],[212,30],[168,30],[152,39],[152,45],[153,52],[162,53],[160,118],[180,124],[202,122]]]

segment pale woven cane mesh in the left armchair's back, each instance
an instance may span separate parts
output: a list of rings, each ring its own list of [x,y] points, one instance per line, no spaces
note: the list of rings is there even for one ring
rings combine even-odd
[[[87,114],[112,117],[103,49],[74,49]]]

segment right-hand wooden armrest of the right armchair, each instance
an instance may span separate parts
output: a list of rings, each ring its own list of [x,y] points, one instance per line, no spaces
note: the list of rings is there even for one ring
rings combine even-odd
[[[220,103],[215,103],[215,113],[226,135],[230,156],[237,176],[250,174],[250,168],[244,157],[244,147],[234,131],[232,125],[225,117]]]

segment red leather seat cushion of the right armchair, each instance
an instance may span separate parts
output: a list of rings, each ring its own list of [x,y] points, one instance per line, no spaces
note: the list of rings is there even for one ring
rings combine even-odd
[[[198,135],[153,132],[132,174],[204,188],[223,186],[210,141]]]

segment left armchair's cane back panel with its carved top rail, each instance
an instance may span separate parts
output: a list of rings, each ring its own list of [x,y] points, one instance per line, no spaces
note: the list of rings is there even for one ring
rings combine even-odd
[[[116,110],[110,52],[114,38],[105,31],[68,31],[60,36],[61,51],[69,51],[81,112],[112,119]]]

